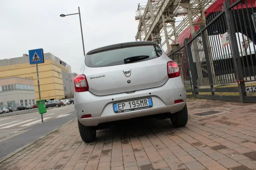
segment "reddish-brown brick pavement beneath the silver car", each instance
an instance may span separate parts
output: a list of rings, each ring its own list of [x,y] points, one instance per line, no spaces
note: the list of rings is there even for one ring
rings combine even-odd
[[[122,121],[82,142],[77,121],[0,164],[0,170],[256,170],[256,104],[189,99],[189,121]],[[222,110],[210,116],[194,113]]]

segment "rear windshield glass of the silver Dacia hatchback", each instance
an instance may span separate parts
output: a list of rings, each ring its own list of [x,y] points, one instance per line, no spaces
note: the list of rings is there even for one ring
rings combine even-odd
[[[151,60],[162,56],[163,52],[158,45],[144,45],[127,48],[118,48],[85,56],[87,67],[107,67],[125,64],[124,59],[134,56],[149,56],[144,60]]]

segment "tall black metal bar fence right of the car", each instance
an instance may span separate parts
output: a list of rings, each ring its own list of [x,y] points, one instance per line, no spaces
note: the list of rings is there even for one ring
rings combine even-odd
[[[188,97],[256,102],[255,0],[227,0],[168,56]]]

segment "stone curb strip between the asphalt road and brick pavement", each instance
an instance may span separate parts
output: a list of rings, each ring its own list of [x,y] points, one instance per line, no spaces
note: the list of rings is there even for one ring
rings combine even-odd
[[[32,145],[33,143],[35,143],[35,142],[39,141],[40,139],[42,139],[42,138],[44,138],[44,137],[48,136],[48,135],[49,135],[49,134],[51,134],[53,131],[56,131],[56,130],[60,129],[61,127],[63,127],[63,126],[65,126],[65,125],[67,125],[68,123],[70,123],[70,122],[74,121],[75,119],[77,119],[77,118],[73,118],[72,120],[68,121],[67,123],[65,123],[65,124],[61,125],[60,127],[57,127],[56,129],[54,129],[54,130],[52,130],[52,131],[50,131],[50,132],[46,133],[45,135],[43,135],[43,136],[41,136],[41,137],[37,138],[36,140],[34,140],[34,141],[32,141],[32,142],[30,142],[30,143],[26,144],[25,146],[22,146],[22,147],[20,147],[19,149],[17,149],[17,150],[15,150],[15,151],[13,151],[13,152],[9,153],[8,155],[6,155],[6,156],[4,156],[4,157],[0,158],[0,163],[2,163],[3,161],[5,161],[6,159],[8,159],[8,158],[12,157],[12,156],[13,156],[13,155],[15,155],[16,153],[18,153],[18,152],[22,151],[23,149],[25,149],[25,148],[29,147],[30,145]]]

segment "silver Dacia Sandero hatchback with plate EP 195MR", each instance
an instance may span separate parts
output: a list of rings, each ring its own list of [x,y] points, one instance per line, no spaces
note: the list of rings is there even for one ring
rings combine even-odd
[[[84,142],[111,121],[141,116],[188,121],[180,70],[152,41],[110,45],[89,51],[75,78],[74,104]]]

